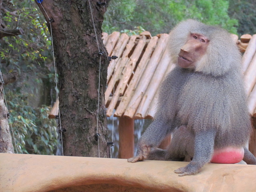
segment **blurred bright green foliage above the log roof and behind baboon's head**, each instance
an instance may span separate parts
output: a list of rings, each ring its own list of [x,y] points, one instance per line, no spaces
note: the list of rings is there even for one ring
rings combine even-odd
[[[120,6],[116,6],[117,4]],[[125,4],[130,4],[130,6],[126,8]],[[111,32],[133,30],[134,26],[140,26],[150,31],[152,35],[168,33],[181,20],[194,18],[237,33],[238,21],[228,16],[227,0],[126,0],[125,4],[123,1],[110,1],[105,16],[109,18]],[[126,18],[124,13],[127,12],[129,15]],[[108,31],[106,19],[103,30]]]

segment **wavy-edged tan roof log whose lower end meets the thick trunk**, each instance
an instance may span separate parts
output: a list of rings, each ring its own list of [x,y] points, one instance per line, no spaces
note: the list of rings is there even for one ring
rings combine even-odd
[[[128,55],[130,54],[130,52],[132,51],[132,48],[135,45],[135,40],[136,40],[136,36],[131,36],[130,37],[130,41],[126,46],[126,50],[124,51],[122,58],[119,58],[117,63],[116,63],[116,72],[115,72],[115,76],[114,78],[111,78],[110,81],[108,82],[108,87],[105,91],[105,102],[108,100],[108,97],[110,96],[110,94],[112,93],[112,90],[114,88],[114,85],[116,84],[116,82],[118,82],[121,78],[121,73],[122,70],[124,68],[124,65],[126,64],[127,60],[128,60]],[[108,107],[108,106],[106,106]]]

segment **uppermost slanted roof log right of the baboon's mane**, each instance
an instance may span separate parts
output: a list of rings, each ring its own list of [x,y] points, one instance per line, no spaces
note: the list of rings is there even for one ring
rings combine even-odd
[[[254,54],[256,52],[256,34],[254,34],[248,44],[248,47],[246,48],[246,51],[244,52],[243,58],[242,58],[242,71],[245,72],[248,68]]]

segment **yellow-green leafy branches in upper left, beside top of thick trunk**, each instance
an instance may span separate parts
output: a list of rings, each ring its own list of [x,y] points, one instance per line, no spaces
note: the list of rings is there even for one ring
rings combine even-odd
[[[0,42],[1,64],[6,63],[3,66],[11,65],[12,69],[19,72],[22,71],[22,68],[34,70],[40,66],[44,67],[52,61],[52,47],[48,37],[48,28],[34,1],[22,0],[15,4],[3,3],[3,6],[5,5],[7,7],[4,8],[7,12],[2,15],[2,20],[6,27],[9,29],[20,27],[24,30],[25,35],[2,38]],[[22,64],[20,64],[21,61]],[[5,68],[4,72],[6,72]]]

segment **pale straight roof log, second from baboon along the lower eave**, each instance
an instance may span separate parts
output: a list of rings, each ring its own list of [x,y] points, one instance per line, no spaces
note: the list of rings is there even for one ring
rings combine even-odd
[[[152,102],[156,91],[158,90],[163,78],[164,74],[168,68],[168,65],[170,64],[170,56],[169,56],[169,50],[165,49],[164,54],[162,55],[162,58],[156,68],[156,71],[154,72],[154,76],[152,77],[148,88],[140,102],[140,105],[138,106],[138,109],[134,115],[135,118],[144,118],[146,116],[146,112],[150,106],[150,103]]]

